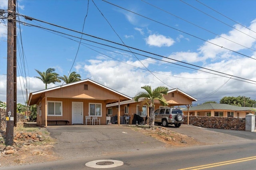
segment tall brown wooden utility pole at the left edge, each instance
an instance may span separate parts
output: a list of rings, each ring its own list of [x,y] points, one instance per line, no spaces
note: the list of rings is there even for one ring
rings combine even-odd
[[[14,8],[16,8],[15,0],[8,0],[5,144],[11,146],[14,135]]]

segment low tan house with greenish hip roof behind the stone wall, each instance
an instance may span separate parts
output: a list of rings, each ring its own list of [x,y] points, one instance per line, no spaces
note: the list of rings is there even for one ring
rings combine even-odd
[[[249,113],[255,114],[252,109],[252,107],[208,103],[190,107],[188,111],[186,109],[182,111],[184,115],[188,115],[189,112],[189,115],[193,116],[245,117]]]

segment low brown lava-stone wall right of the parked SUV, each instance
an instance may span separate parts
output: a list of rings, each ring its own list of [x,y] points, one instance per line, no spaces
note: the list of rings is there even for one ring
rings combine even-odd
[[[188,124],[188,116],[184,116],[183,124]],[[189,116],[189,124],[205,128],[245,131],[245,117]]]

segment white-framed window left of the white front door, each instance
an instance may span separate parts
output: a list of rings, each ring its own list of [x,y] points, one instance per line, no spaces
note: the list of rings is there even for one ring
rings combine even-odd
[[[48,101],[47,108],[48,116],[62,116],[62,102]]]

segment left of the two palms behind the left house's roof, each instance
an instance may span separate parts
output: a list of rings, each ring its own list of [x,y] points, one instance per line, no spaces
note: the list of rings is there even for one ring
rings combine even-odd
[[[55,84],[56,82],[61,82],[59,74],[57,74],[54,71],[55,71],[55,68],[48,68],[46,72],[40,72],[39,70],[36,70],[36,72],[38,72],[38,74],[40,75],[40,77],[36,77],[36,78],[39,78],[40,80],[42,80],[42,82],[45,84],[45,89],[47,89],[47,84],[50,84],[50,83]]]

